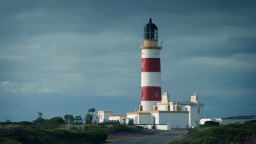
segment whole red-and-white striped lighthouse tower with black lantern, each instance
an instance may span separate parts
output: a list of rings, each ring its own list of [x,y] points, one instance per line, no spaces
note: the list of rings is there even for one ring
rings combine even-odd
[[[153,111],[161,102],[161,62],[158,46],[158,27],[149,23],[144,27],[144,44],[141,48],[141,104],[139,111]]]

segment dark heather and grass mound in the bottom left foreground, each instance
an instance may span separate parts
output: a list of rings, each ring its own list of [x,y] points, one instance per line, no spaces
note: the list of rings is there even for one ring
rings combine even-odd
[[[100,143],[108,138],[103,128],[80,125],[6,125],[0,128],[0,143],[73,144]]]

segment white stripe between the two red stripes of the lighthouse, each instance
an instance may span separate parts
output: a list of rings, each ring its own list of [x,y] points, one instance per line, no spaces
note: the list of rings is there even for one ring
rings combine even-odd
[[[141,72],[141,86],[161,86],[161,73]]]

